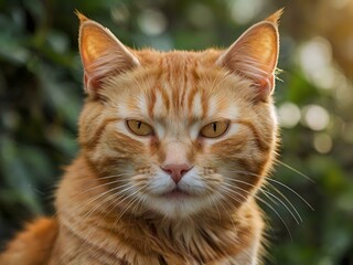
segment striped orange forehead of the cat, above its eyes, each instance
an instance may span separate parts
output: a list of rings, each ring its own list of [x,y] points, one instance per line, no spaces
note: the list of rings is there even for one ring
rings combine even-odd
[[[236,107],[216,93],[218,78],[200,77],[197,63],[189,61],[186,56],[176,62],[161,60],[156,74],[138,82],[141,89],[135,92],[132,102],[128,104],[131,114],[140,113],[136,116],[151,121],[181,119],[183,123],[234,116]]]

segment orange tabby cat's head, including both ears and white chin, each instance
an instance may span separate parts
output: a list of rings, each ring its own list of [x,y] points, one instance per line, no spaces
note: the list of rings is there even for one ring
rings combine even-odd
[[[170,219],[237,208],[270,169],[280,11],[233,45],[136,51],[82,14],[83,153],[124,211]]]

